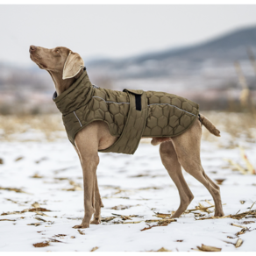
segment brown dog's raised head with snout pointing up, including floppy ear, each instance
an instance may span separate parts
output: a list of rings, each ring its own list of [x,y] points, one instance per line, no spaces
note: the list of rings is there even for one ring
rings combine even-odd
[[[73,53],[67,47],[47,49],[39,46],[30,46],[30,58],[39,68],[52,73],[61,74],[63,80],[75,77],[84,67],[83,60],[78,53]]]

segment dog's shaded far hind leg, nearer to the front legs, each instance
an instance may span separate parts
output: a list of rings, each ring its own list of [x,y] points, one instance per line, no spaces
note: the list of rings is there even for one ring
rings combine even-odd
[[[180,217],[181,213],[188,208],[188,205],[191,203],[194,196],[183,177],[181,172],[181,164],[178,161],[177,154],[174,150],[174,145],[171,141],[160,144],[160,157],[164,167],[167,169],[168,174],[179,190],[181,204],[172,217]]]

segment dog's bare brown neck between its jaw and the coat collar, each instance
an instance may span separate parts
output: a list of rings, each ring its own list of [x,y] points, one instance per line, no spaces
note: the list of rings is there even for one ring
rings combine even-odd
[[[67,90],[80,77],[80,75],[82,75],[83,69],[74,77],[68,78],[65,80],[62,79],[62,72],[53,72],[53,71],[48,71],[48,72],[53,79],[57,96],[60,96],[61,93]]]

